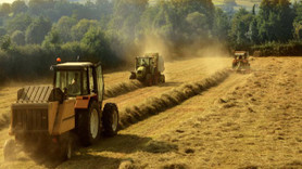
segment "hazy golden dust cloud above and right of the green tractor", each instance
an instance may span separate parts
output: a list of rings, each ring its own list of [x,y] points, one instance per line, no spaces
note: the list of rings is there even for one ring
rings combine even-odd
[[[230,62],[225,62],[225,57],[229,57],[228,49],[219,43],[217,40],[212,41],[196,41],[190,44],[176,46],[175,43],[154,35],[149,35],[140,43],[140,52],[138,55],[144,53],[159,52],[165,60],[165,62],[174,62],[179,60],[192,60],[196,57],[204,57],[204,65],[209,67],[206,70],[209,74],[217,72],[230,66]],[[224,60],[223,60],[224,58]]]

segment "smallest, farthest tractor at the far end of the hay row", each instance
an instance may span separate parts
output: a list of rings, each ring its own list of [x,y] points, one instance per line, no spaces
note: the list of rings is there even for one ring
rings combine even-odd
[[[235,51],[234,61],[232,61],[232,69],[236,72],[243,72],[243,73],[250,70],[249,52]]]

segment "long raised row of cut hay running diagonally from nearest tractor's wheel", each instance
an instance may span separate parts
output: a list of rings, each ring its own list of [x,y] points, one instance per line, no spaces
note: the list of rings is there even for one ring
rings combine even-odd
[[[229,72],[227,69],[219,70],[201,81],[181,84],[180,87],[163,93],[159,98],[149,98],[140,105],[126,107],[125,110],[121,112],[121,129],[125,129],[142,119],[164,112],[167,108],[176,106],[184,101],[200,94],[211,87],[217,86],[224,81],[228,75]]]

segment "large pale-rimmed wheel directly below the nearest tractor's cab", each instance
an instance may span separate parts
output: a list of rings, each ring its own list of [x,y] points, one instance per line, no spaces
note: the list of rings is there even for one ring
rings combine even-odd
[[[96,143],[100,138],[100,107],[92,102],[88,112],[78,115],[78,138],[84,146]]]

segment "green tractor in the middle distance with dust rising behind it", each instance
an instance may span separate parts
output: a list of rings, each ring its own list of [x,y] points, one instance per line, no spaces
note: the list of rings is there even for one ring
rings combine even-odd
[[[135,66],[135,72],[131,72],[129,79],[137,79],[149,87],[165,82],[165,76],[162,74],[165,69],[164,60],[159,53],[137,56]]]

